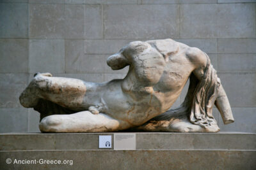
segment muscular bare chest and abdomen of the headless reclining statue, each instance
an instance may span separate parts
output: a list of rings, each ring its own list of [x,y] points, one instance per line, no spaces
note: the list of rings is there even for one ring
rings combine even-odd
[[[140,125],[167,111],[177,100],[195,69],[186,54],[189,46],[172,40],[172,46],[166,48],[175,48],[165,56],[158,52],[161,49],[156,50],[156,41],[147,41],[148,49],[130,56],[132,64],[124,80],[109,83],[111,89],[118,83],[121,86],[119,89],[116,85],[117,96],[109,90],[103,97],[108,106],[106,114]]]

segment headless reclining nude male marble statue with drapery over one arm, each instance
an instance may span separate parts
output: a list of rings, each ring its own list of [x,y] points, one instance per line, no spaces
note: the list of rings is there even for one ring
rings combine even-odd
[[[107,64],[129,72],[104,83],[36,73],[20,103],[40,112],[42,132],[218,132],[214,104],[224,124],[234,122],[220,79],[198,48],[172,39],[134,41]],[[170,110],[188,80],[184,102]]]

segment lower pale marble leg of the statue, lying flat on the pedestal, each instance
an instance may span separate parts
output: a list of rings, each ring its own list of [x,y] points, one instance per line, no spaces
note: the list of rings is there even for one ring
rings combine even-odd
[[[111,132],[127,129],[131,125],[103,113],[94,115],[90,111],[81,111],[70,115],[45,117],[39,127],[42,132]]]

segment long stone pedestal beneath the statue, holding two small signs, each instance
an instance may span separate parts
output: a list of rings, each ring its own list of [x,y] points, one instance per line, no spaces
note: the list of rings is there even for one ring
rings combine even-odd
[[[0,167],[1,169],[255,169],[256,167],[256,134],[253,133],[135,132],[123,135],[124,133],[0,134]],[[99,141],[99,136],[111,136],[111,146],[107,146],[110,148],[99,148],[99,143],[102,142]],[[129,150],[133,146],[135,148]]]

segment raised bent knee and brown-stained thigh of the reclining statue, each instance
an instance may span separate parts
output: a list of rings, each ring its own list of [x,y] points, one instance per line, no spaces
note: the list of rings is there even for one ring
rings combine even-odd
[[[86,85],[82,80],[38,73],[20,95],[20,104],[34,108],[39,99],[45,99],[65,108],[80,108],[85,93]]]

